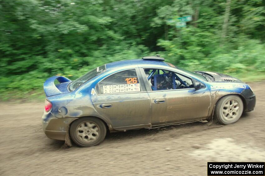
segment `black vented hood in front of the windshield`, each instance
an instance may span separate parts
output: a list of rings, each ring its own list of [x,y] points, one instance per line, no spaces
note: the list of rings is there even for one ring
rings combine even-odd
[[[211,77],[211,82],[232,82],[232,83],[243,83],[238,78],[234,78],[232,76],[229,76],[227,74],[221,74],[217,72],[208,72],[208,71],[195,71],[196,73],[206,74]],[[208,78],[209,78],[208,76]]]

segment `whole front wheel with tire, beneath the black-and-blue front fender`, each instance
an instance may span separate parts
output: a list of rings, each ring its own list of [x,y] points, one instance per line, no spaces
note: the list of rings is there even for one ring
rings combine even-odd
[[[228,95],[217,102],[214,110],[214,118],[221,124],[232,124],[239,120],[243,113],[243,109],[243,101],[239,96]]]

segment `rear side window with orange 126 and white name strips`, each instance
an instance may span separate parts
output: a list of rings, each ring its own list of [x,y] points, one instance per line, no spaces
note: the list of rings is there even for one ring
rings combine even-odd
[[[98,83],[97,89],[100,94],[141,91],[139,78],[135,69],[124,70],[110,75]]]

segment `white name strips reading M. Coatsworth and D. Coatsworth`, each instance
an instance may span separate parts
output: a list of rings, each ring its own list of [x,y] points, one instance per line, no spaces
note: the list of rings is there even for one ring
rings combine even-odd
[[[140,84],[118,84],[103,86],[103,93],[139,92]]]

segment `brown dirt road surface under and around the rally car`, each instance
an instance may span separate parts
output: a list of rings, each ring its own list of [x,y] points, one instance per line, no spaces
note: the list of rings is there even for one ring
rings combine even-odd
[[[112,133],[98,146],[51,140],[44,103],[0,104],[0,175],[207,175],[208,161],[265,161],[265,82],[256,108],[232,125],[191,123]]]

